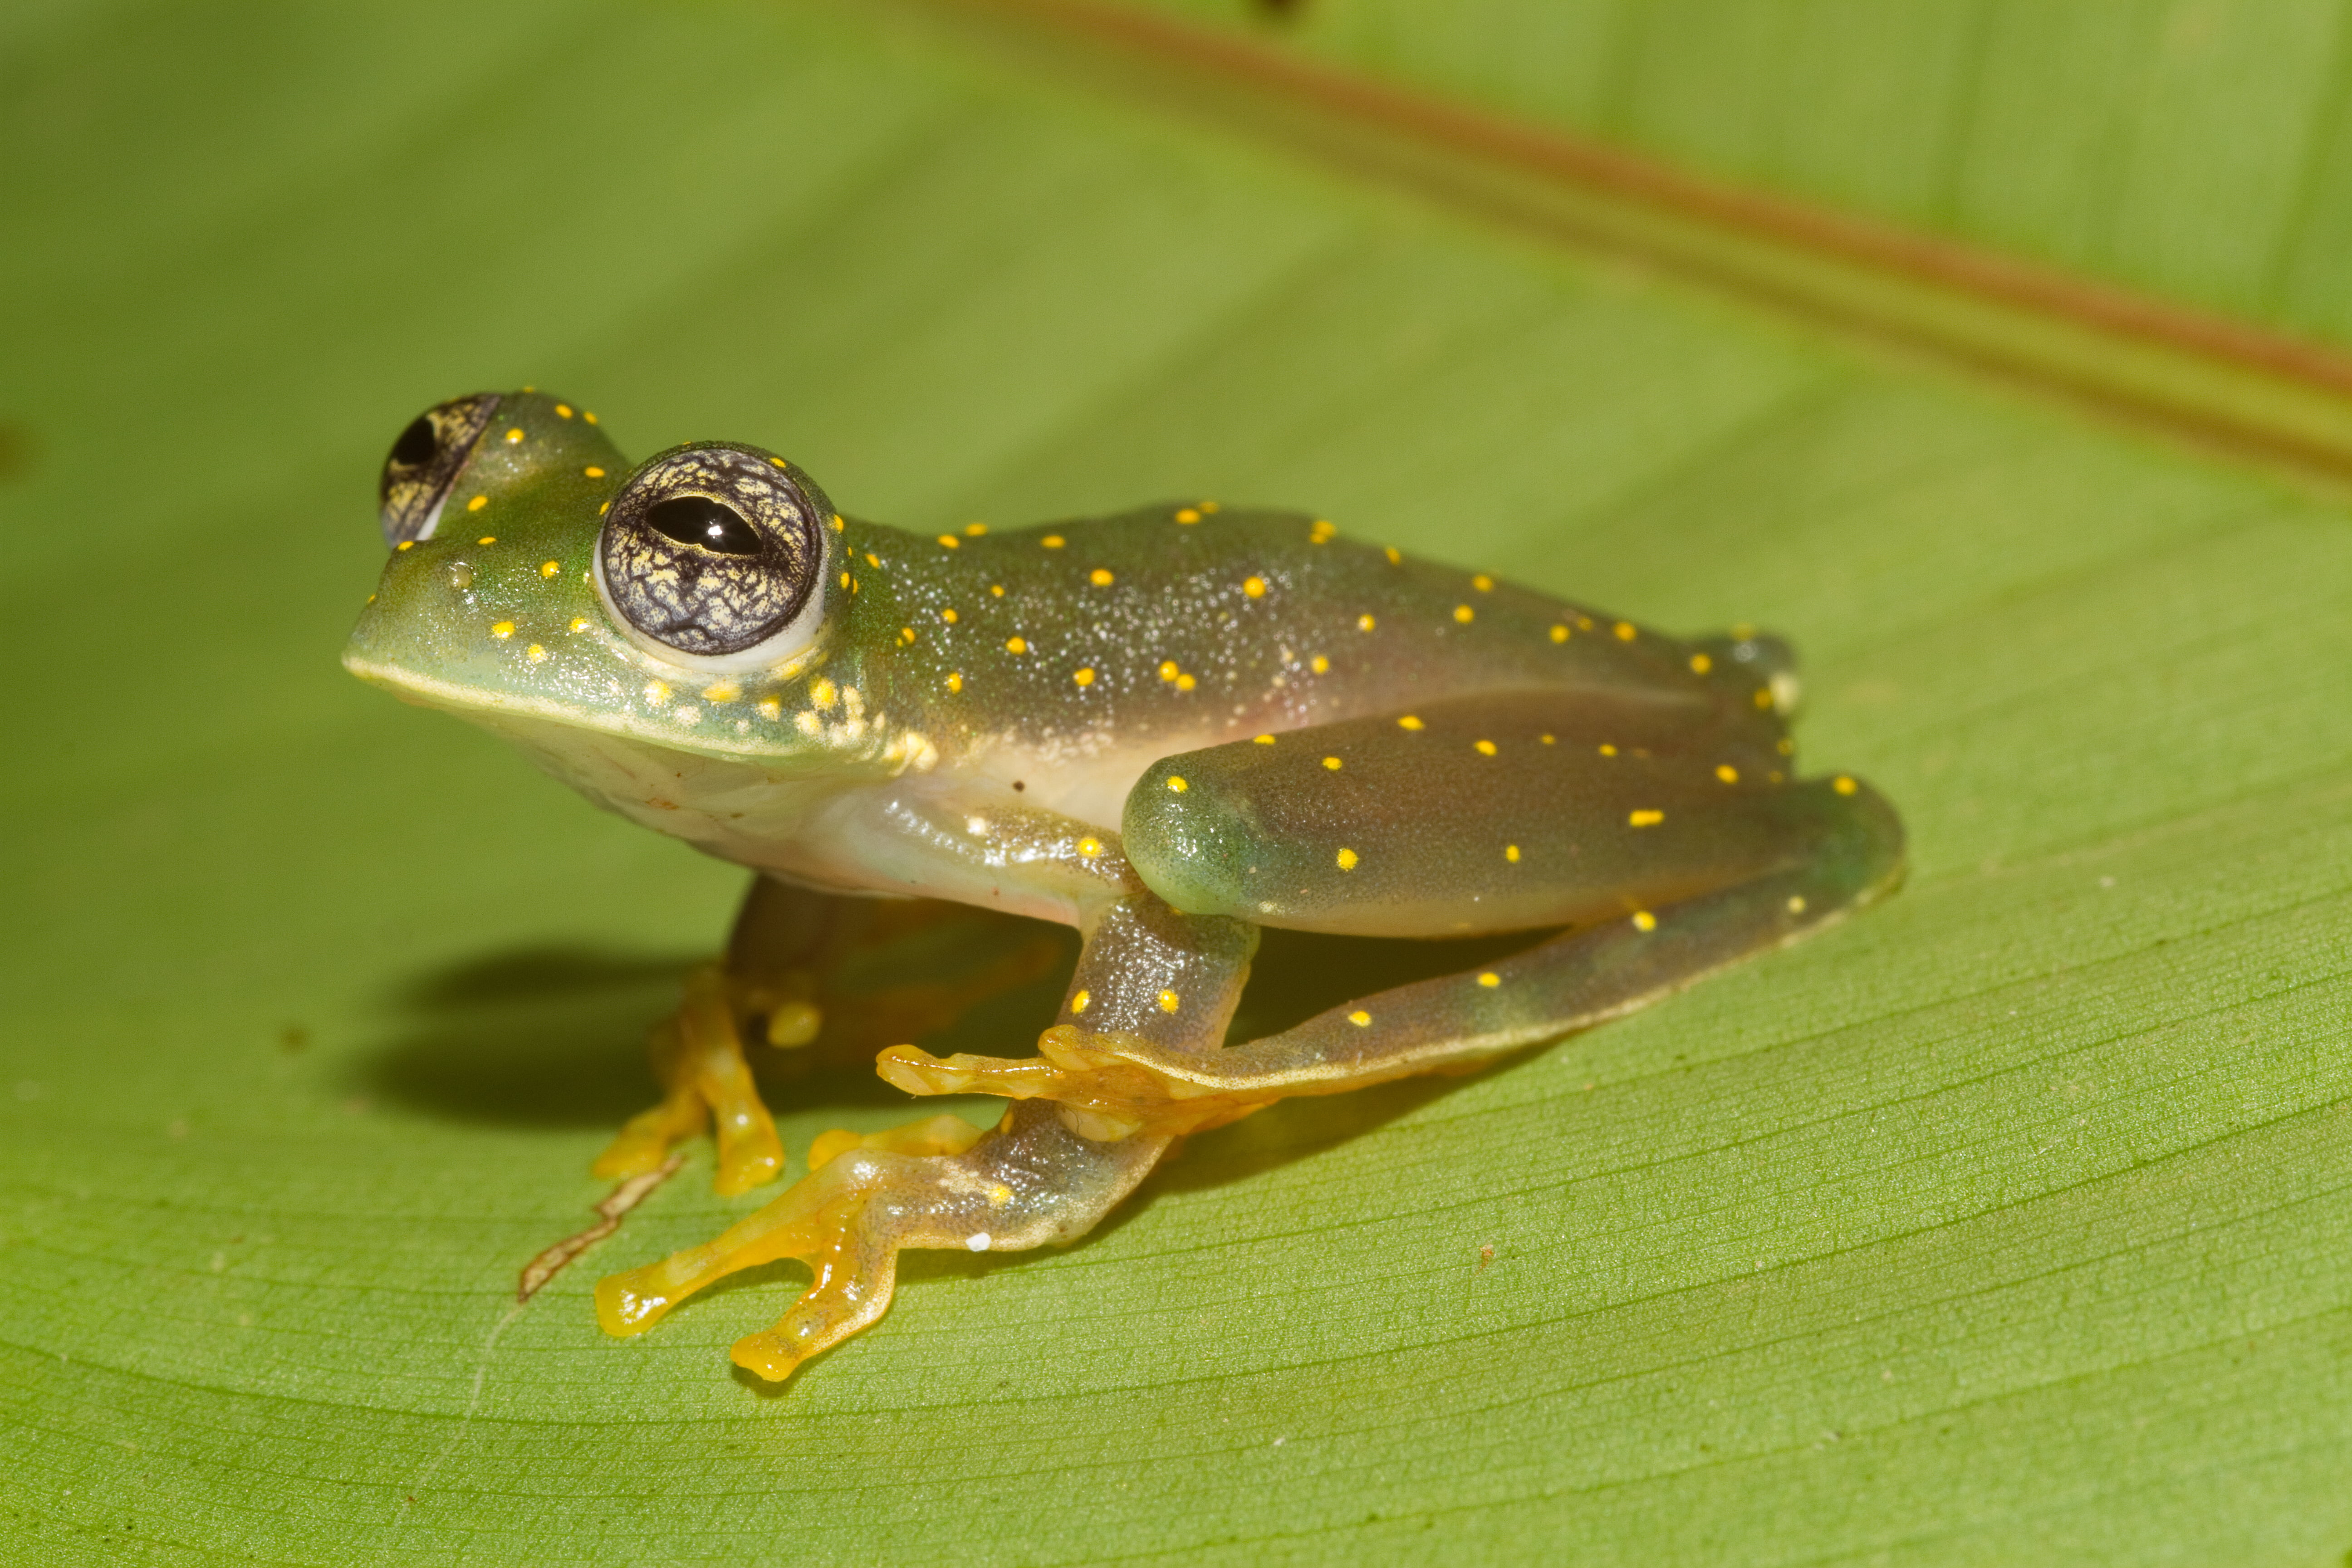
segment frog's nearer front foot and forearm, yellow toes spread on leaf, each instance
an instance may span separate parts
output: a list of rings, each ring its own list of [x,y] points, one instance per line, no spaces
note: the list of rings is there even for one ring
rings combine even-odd
[[[826,1133],[818,1168],[727,1234],[597,1284],[597,1321],[635,1335],[739,1269],[797,1258],[814,1281],[783,1319],[734,1347],[781,1382],[889,1309],[898,1248],[1016,1251],[1073,1241],[1152,1168],[1167,1138],[1096,1143],[1051,1107],[1016,1107],[995,1131],[955,1117],[858,1138]]]

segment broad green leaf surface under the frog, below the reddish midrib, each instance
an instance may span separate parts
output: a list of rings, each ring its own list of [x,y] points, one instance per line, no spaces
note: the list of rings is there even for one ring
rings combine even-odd
[[[1628,266],[1037,26],[0,19],[0,1556],[2352,1547],[2343,505],[2023,386],[2079,324],[2011,320],[1994,381],[1889,355],[1679,280],[1738,233]],[[2065,216],[2032,160],[1973,179]],[[381,449],[524,381],[920,529],[1289,501],[1783,628],[1910,886],[1475,1079],[1204,1135],[1070,1251],[924,1255],[781,1394],[724,1349],[788,1267],[642,1340],[588,1309],[757,1201],[706,1154],[517,1312],[741,882],[336,670]],[[1261,1016],[1367,976],[1261,969]],[[795,1154],[906,1114],[776,1098]]]

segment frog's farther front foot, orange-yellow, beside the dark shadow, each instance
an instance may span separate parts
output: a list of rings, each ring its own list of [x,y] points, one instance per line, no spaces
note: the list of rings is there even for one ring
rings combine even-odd
[[[623,1180],[656,1171],[673,1143],[691,1138],[717,1117],[717,1190],[731,1197],[776,1180],[783,1145],[743,1060],[736,1009],[717,964],[687,976],[677,1016],[654,1027],[654,1072],[666,1091],[661,1105],[628,1119],[597,1154],[597,1175]]]

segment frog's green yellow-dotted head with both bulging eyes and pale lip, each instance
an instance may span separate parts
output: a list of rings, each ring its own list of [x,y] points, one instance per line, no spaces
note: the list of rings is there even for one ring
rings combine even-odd
[[[393,557],[343,651],[365,679],[541,752],[600,731],[790,769],[887,745],[844,736],[816,675],[844,651],[842,520],[779,456],[699,442],[630,465],[595,414],[482,393],[400,433],[381,501]]]

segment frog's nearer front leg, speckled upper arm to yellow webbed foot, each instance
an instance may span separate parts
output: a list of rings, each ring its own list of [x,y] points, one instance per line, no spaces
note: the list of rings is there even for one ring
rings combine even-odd
[[[1256,929],[1185,917],[1131,882],[1115,844],[1054,818],[1000,823],[995,849],[1082,863],[1084,950],[1063,1018],[1091,1018],[1192,1056],[1216,1048],[1249,978]],[[1117,882],[1127,877],[1122,893]],[[1112,896],[1117,893],[1117,896]],[[783,1319],[734,1347],[734,1361],[781,1380],[889,1307],[896,1255],[908,1246],[1021,1251],[1073,1241],[1124,1199],[1174,1145],[1087,1107],[1016,1105],[988,1133],[953,1117],[851,1138],[828,1133],[807,1178],[703,1246],[597,1286],[609,1333],[652,1328],[703,1286],[776,1258],[809,1265],[809,1291]]]

